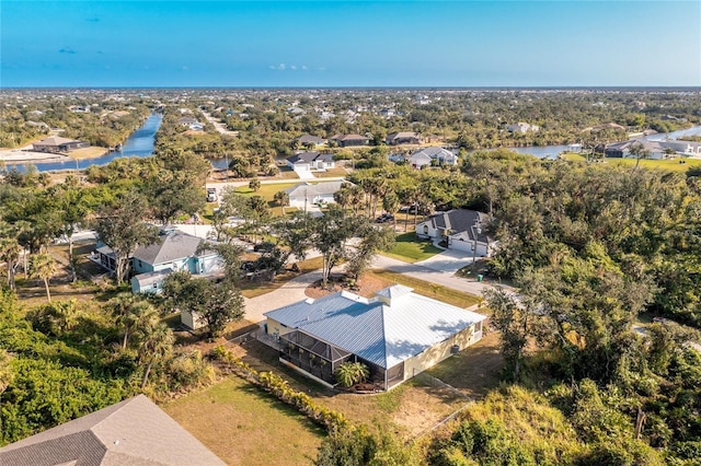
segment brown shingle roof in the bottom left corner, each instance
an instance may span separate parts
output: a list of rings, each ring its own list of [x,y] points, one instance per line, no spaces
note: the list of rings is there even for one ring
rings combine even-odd
[[[2,466],[225,465],[139,395],[0,448]]]

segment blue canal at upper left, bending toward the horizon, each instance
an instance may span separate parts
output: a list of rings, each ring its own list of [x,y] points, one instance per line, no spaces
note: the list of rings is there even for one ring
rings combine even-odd
[[[134,131],[125,141],[120,151],[107,152],[104,155],[94,159],[68,160],[61,162],[35,162],[39,172],[53,172],[58,170],[84,170],[91,165],[106,165],[115,159],[137,156],[146,158],[153,154],[153,144],[156,141],[156,131],[161,127],[163,116],[160,114],[151,114],[143,125]],[[23,170],[26,164],[12,165]]]

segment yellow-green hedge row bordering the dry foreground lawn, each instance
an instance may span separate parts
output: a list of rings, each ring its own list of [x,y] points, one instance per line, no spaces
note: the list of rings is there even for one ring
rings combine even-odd
[[[234,374],[263,388],[280,401],[294,406],[329,432],[348,427],[348,420],[343,413],[320,406],[309,395],[290,387],[287,381],[272,372],[257,372],[225,347],[214,348],[211,356],[215,360],[226,363]]]

